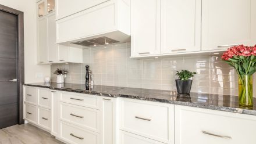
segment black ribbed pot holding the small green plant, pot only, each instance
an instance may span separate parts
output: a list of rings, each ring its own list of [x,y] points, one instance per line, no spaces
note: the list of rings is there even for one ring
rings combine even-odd
[[[175,80],[176,81],[176,87],[177,87],[177,92],[182,93],[182,94],[189,94],[191,85],[192,85],[192,80]]]

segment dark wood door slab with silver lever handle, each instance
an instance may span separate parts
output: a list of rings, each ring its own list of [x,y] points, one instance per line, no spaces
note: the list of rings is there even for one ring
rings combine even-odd
[[[17,15],[0,10],[0,128],[18,124]]]

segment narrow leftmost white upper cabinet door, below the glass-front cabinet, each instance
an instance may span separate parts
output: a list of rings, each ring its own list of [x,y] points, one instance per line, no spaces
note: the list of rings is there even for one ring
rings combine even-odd
[[[38,19],[38,62],[48,63],[47,50],[47,19],[42,17]]]

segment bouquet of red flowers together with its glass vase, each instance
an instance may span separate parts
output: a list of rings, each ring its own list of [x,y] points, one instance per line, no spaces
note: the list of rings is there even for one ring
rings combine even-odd
[[[222,59],[239,75],[239,105],[253,106],[253,74],[256,72],[256,45],[238,45],[227,49]]]

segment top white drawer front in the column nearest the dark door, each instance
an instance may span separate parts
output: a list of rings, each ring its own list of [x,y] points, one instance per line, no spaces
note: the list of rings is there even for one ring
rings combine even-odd
[[[37,88],[36,87],[25,87],[24,102],[32,103],[37,105]]]

